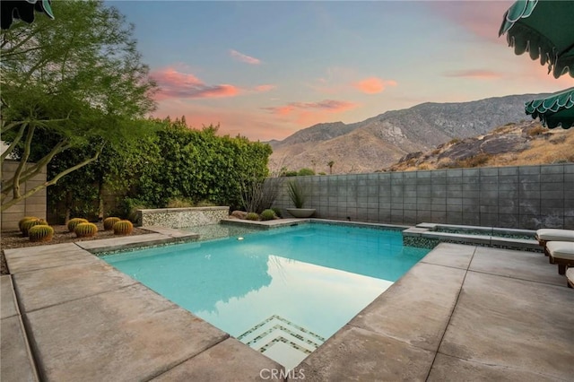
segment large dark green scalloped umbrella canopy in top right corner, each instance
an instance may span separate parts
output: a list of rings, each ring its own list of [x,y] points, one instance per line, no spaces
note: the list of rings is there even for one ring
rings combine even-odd
[[[574,1],[519,0],[504,14],[504,33],[517,55],[540,57],[555,78],[574,77]]]

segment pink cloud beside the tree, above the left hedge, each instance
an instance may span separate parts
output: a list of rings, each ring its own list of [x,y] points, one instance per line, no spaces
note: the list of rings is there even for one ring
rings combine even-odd
[[[179,73],[171,67],[153,71],[150,76],[160,87],[155,96],[156,100],[234,97],[240,92],[234,85],[208,85],[194,74]]]

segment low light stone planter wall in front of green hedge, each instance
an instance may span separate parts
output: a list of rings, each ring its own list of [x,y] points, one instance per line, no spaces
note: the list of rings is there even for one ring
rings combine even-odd
[[[138,210],[137,214],[142,227],[185,228],[217,224],[229,217],[230,207],[158,208]]]

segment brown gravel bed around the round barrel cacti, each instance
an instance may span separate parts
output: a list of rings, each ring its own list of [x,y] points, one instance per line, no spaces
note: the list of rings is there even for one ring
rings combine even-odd
[[[19,230],[5,230],[2,231],[2,237],[0,239],[2,247],[2,258],[0,259],[0,273],[9,274],[8,267],[6,266],[6,260],[4,258],[4,249],[10,248],[21,248],[21,247],[35,247],[35,246],[46,246],[51,244],[61,244],[61,243],[74,243],[76,241],[85,240],[98,240],[98,239],[110,239],[114,237],[113,230],[104,230],[103,224],[101,222],[96,223],[98,226],[98,233],[93,238],[76,238],[75,233],[69,232],[65,225],[53,225],[54,238],[48,242],[32,243],[28,238],[22,238],[22,233]],[[131,236],[134,235],[144,235],[146,233],[152,233],[149,230],[143,230],[141,228],[134,227]]]

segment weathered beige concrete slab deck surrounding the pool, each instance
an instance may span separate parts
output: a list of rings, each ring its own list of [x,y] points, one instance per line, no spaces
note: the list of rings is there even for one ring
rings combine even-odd
[[[146,236],[4,250],[0,379],[242,381],[282,369],[85,248]],[[442,243],[290,377],[567,381],[573,309],[544,255]]]

